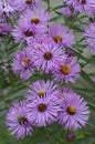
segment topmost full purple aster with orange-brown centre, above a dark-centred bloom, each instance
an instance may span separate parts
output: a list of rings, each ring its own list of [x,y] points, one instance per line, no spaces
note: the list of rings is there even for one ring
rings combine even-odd
[[[44,8],[36,8],[34,10],[28,9],[24,14],[21,16],[23,21],[27,21],[29,24],[34,24],[35,27],[44,27],[50,20],[50,14]]]

